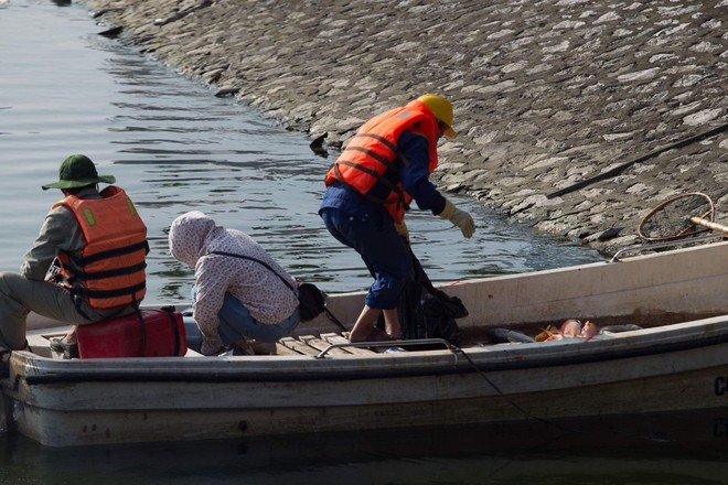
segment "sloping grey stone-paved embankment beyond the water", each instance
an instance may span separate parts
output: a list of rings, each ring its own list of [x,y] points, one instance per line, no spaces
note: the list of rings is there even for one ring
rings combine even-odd
[[[85,3],[330,149],[377,112],[449,97],[439,185],[538,230],[609,252],[694,191],[728,223],[728,0]]]

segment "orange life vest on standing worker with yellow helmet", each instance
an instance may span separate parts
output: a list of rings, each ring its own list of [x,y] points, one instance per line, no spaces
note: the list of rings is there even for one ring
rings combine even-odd
[[[409,164],[397,148],[397,140],[405,130],[427,139],[428,173],[432,173],[438,163],[437,120],[424,103],[414,100],[365,122],[329,169],[326,186],[341,181],[370,201],[383,204],[392,219],[400,223],[413,200],[399,176],[399,168]],[[375,196],[373,188],[382,193],[382,185],[387,195]]]

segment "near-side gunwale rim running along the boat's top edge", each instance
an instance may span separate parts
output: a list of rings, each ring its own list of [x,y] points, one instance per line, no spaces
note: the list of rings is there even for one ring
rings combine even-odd
[[[341,381],[593,364],[693,351],[726,343],[728,343],[728,315],[721,315],[599,336],[590,342],[582,338],[561,338],[560,341],[531,344],[495,344],[454,351],[404,352],[372,354],[371,356],[330,355],[325,358],[317,358],[301,355],[58,360],[29,352],[19,352],[13,359],[14,365],[21,369],[15,378],[24,379],[30,386],[84,381]],[[150,366],[150,362],[158,364],[157,368]],[[143,367],[129,369],[129,366]]]

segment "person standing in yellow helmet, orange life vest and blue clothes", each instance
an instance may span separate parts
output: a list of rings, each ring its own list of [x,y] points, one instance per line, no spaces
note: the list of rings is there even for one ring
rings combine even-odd
[[[360,254],[374,278],[351,342],[402,338],[397,302],[413,266],[405,224],[413,200],[458,226],[465,238],[475,231],[470,214],[429,180],[442,136],[456,137],[452,105],[427,94],[365,122],[326,173],[319,214],[334,238]],[[382,313],[386,335],[374,326]]]

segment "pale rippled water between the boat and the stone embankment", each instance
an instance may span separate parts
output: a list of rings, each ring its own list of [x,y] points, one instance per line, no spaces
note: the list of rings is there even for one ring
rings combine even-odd
[[[22,161],[0,181],[0,192],[30,200],[0,208],[3,220],[18,223],[11,224],[0,267],[18,267],[60,196],[41,192],[40,185],[54,179],[66,154],[83,152],[100,173],[117,177],[149,226],[150,302],[189,298],[192,274],[170,257],[167,230],[191,209],[249,233],[292,273],[329,292],[371,283],[356,254],[336,242],[317,215],[331,158],[315,155],[301,133],[287,132],[136,48],[97,35],[105,28],[77,6],[58,9],[41,0],[15,0],[0,15],[0,39],[8,45],[0,114],[13,121],[3,123],[10,128],[2,133],[3,154]],[[468,197],[451,197],[478,224],[470,240],[431,214],[408,215],[414,250],[432,280],[601,259]]]

